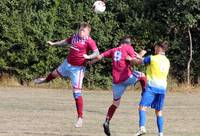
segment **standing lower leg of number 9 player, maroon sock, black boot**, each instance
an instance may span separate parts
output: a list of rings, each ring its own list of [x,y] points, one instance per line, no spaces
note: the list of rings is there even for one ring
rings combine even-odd
[[[119,107],[119,104],[120,104],[120,99],[118,100],[113,100],[113,103],[112,105],[109,107],[108,109],[108,112],[107,112],[107,116],[106,116],[106,120],[105,122],[103,123],[103,128],[104,128],[104,133],[107,135],[107,136],[110,136],[111,133],[110,133],[110,127],[109,127],[109,124],[110,124],[110,120],[112,119],[112,116],[114,115],[117,107]]]

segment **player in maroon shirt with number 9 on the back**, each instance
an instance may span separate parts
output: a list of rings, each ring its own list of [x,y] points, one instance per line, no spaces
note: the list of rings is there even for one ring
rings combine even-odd
[[[141,55],[143,56],[145,51],[142,53],[143,54]],[[123,38],[118,47],[109,49],[99,55],[96,59],[90,61],[90,64],[93,64],[102,58],[112,58],[113,103],[108,109],[106,120],[103,124],[104,133],[107,136],[111,135],[109,123],[120,104],[121,96],[126,88],[130,85],[135,85],[137,81],[140,81],[142,90],[144,90],[146,86],[145,75],[142,72],[131,70],[131,64],[126,60],[128,55],[132,58],[140,57],[131,46],[130,37],[126,36]]]

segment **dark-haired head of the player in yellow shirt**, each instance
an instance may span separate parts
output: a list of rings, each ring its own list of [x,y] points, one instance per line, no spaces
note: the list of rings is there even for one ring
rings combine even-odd
[[[167,41],[161,41],[155,43],[155,54],[159,54],[160,52],[166,52],[168,49],[169,43]]]

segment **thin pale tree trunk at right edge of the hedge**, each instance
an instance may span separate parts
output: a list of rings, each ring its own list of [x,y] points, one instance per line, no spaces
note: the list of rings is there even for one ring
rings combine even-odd
[[[189,40],[190,40],[190,58],[187,64],[187,84],[190,85],[190,64],[192,61],[192,35],[191,35],[189,27],[188,27],[188,34],[189,34]]]

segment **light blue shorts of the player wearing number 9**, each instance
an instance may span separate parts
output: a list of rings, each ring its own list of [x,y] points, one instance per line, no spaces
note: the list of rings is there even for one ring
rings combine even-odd
[[[142,72],[134,71],[133,74],[124,82],[120,84],[112,84],[112,90],[113,90],[113,99],[119,100],[121,96],[123,95],[126,88],[130,85],[135,85],[141,76],[144,76]]]

